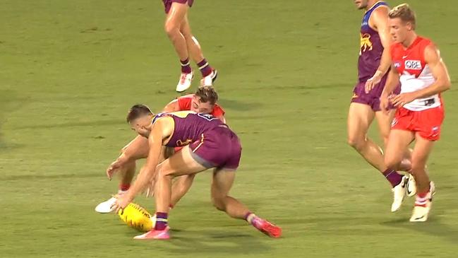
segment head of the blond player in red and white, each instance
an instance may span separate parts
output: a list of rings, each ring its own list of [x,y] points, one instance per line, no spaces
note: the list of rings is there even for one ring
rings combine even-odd
[[[409,34],[413,33],[416,25],[414,10],[409,4],[399,4],[392,8],[390,17],[390,33],[395,42],[404,42]]]

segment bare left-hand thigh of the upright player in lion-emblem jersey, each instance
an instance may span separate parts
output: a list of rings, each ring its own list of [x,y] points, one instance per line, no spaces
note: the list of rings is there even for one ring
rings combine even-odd
[[[374,116],[375,114],[369,105],[351,102],[347,119],[349,139],[365,137]]]

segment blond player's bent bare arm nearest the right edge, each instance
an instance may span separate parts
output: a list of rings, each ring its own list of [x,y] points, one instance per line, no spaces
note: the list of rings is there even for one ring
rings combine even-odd
[[[402,93],[392,99],[395,106],[402,106],[417,98],[427,98],[431,95],[442,93],[450,89],[450,76],[448,75],[447,67],[440,57],[439,50],[434,45],[429,45],[425,49],[425,61],[428,64],[431,73],[435,78],[435,83],[421,90],[416,90],[411,93]]]

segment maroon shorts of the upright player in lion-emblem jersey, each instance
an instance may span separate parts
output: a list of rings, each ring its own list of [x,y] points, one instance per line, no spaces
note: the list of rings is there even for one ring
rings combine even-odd
[[[380,111],[380,95],[382,95],[383,88],[387,81],[387,76],[384,76],[380,83],[378,83],[369,93],[366,93],[364,86],[366,86],[366,81],[356,83],[355,88],[353,89],[353,97],[351,102],[361,103],[369,105],[374,112]],[[394,94],[399,94],[401,87],[398,86],[394,90]],[[390,109],[394,109],[393,105],[389,106]]]

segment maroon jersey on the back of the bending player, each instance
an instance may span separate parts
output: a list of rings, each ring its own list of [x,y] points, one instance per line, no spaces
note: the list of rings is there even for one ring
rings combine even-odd
[[[180,147],[198,141],[203,133],[217,127],[227,127],[221,120],[209,114],[192,111],[179,111],[156,115],[153,123],[159,117],[171,117],[174,119],[174,132],[167,142],[168,147]]]

